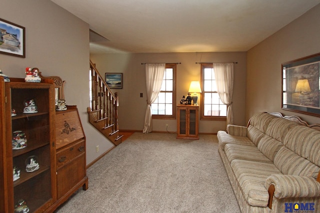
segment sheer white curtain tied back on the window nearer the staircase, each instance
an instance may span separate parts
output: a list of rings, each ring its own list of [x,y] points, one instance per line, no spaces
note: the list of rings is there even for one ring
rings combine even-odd
[[[163,74],[165,70],[165,63],[162,64],[145,64],[145,81],[146,81],[146,110],[144,117],[143,133],[152,132],[152,114],[151,104],[158,97]]]

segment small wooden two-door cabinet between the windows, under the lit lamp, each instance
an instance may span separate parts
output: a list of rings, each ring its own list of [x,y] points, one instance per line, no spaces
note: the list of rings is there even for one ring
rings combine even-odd
[[[177,105],[177,136],[182,139],[199,139],[199,106]]]

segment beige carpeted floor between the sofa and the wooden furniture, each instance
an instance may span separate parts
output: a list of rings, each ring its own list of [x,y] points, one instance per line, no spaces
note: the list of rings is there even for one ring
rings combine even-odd
[[[134,133],[87,170],[56,213],[239,213],[216,135]]]

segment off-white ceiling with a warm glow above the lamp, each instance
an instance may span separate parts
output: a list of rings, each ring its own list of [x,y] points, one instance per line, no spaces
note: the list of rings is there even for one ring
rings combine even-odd
[[[320,0],[51,0],[106,40],[91,53],[247,51]]]

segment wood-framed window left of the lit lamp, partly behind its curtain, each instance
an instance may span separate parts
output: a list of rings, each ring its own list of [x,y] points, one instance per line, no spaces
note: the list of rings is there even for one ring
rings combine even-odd
[[[160,93],[151,104],[154,119],[175,119],[175,70],[176,64],[165,64]]]

